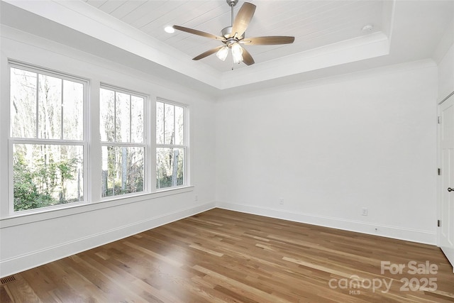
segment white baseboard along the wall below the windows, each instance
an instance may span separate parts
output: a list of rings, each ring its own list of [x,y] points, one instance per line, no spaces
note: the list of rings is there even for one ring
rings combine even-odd
[[[187,209],[179,209],[178,211],[134,222],[133,224],[128,224],[126,226],[119,226],[118,228],[104,231],[102,233],[96,233],[88,237],[78,238],[74,241],[68,241],[57,246],[35,250],[31,253],[1,260],[0,277],[13,275],[17,272],[22,272],[24,270],[35,268],[52,261],[74,255],[75,253],[80,253],[106,243],[118,241],[122,238],[133,236],[136,233],[148,231],[149,229],[156,228],[157,226],[162,226],[179,219],[184,219],[188,216],[193,216],[194,214],[199,214],[215,207],[216,204],[214,202],[199,204]]]

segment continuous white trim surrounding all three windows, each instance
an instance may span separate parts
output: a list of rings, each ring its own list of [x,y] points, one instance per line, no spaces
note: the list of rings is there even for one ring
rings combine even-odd
[[[72,202],[70,204],[60,204],[55,206],[48,206],[38,209],[30,209],[26,211],[13,211],[13,142],[20,143],[37,143],[34,138],[11,138],[11,114],[10,106],[11,101],[8,99],[6,102],[6,107],[4,111],[7,114],[4,114],[6,117],[4,126],[8,126],[7,130],[5,128],[5,134],[7,133],[8,143],[6,143],[7,155],[8,158],[5,160],[8,167],[8,175],[5,178],[7,180],[7,193],[8,201],[1,202],[1,207],[4,207],[5,211],[1,212],[0,224],[1,228],[9,226],[18,226],[21,224],[29,224],[32,222],[43,221],[48,219],[59,218],[62,216],[71,216],[73,214],[82,214],[87,211],[94,211],[98,209],[106,209],[109,207],[120,206],[125,204],[131,204],[136,202],[143,202],[147,200],[159,199],[161,197],[167,197],[174,194],[183,194],[186,192],[194,191],[194,186],[191,184],[190,176],[190,160],[191,160],[191,150],[190,150],[190,138],[189,138],[189,109],[188,104],[182,104],[175,101],[171,101],[164,98],[157,98],[155,96],[150,97],[148,94],[143,94],[136,92],[132,89],[121,89],[121,87],[112,86],[105,84],[103,82],[97,82],[91,79],[81,77],[79,75],[72,75],[69,72],[62,72],[60,70],[52,70],[48,67],[41,67],[35,64],[29,64],[27,62],[21,62],[18,60],[8,59],[8,64],[5,65],[5,70],[2,70],[2,75],[5,75],[5,81],[1,84],[2,89],[5,89],[5,95],[10,98],[11,96],[11,67],[16,67],[21,70],[27,70],[29,72],[37,72],[40,75],[48,75],[51,77],[58,77],[60,79],[67,79],[74,82],[79,82],[84,85],[84,101],[83,101],[83,129],[84,129],[84,138],[82,141],[66,141],[67,143],[82,143],[84,148],[84,201],[83,202]],[[117,89],[118,92],[126,92],[127,94],[133,93],[133,95],[138,95],[138,97],[145,96],[144,101],[144,114],[147,114],[149,119],[145,119],[144,125],[144,140],[145,144],[149,145],[148,148],[148,162],[145,162],[145,169],[148,170],[145,174],[148,175],[148,192],[138,192],[137,194],[123,194],[118,196],[106,197],[106,199],[101,199],[100,190],[96,191],[93,188],[92,178],[96,177],[96,160],[98,159],[94,154],[101,153],[101,141],[99,140],[99,111],[96,111],[96,106],[99,108],[99,89],[105,87],[107,89]],[[94,98],[94,99],[93,99]],[[93,100],[91,100],[93,99]],[[184,161],[184,180],[183,185],[176,187],[164,187],[161,189],[156,188],[156,102],[161,101],[167,104],[173,104],[176,106],[182,106],[184,108],[184,142],[185,145],[182,145],[186,148],[186,157]],[[92,124],[98,124],[94,126]],[[90,127],[91,126],[91,127]],[[64,141],[57,140],[55,141],[60,144],[65,144]],[[52,140],[48,139],[44,143],[52,144]],[[123,143],[121,143],[123,144]],[[134,143],[135,144],[135,143]],[[164,145],[163,147],[168,147]],[[177,146],[176,146],[177,147]],[[147,161],[147,160],[145,160]],[[96,197],[94,196],[96,194]],[[99,197],[98,197],[99,196]]]

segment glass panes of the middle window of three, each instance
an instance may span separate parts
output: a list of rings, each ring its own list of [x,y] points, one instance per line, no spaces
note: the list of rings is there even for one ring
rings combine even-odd
[[[102,197],[145,190],[145,96],[103,86],[99,94]]]

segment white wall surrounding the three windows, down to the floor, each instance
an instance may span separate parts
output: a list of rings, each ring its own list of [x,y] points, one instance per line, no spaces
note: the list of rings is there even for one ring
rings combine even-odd
[[[214,207],[215,140],[211,98],[184,84],[164,82],[128,67],[88,55],[12,28],[1,28],[1,107],[8,108],[8,58],[90,79],[92,110],[98,110],[99,82],[189,105],[192,187],[129,199],[6,218],[8,212],[8,111],[0,111],[0,275],[26,270],[118,238],[130,236]],[[92,127],[96,128],[96,124]],[[95,134],[96,136],[96,134]],[[99,136],[99,135],[98,135]],[[99,143],[98,143],[99,144]],[[96,149],[96,141],[92,150]],[[99,155],[98,155],[99,157]],[[100,159],[98,159],[100,162]],[[96,156],[91,165],[96,164]],[[93,191],[100,178],[90,180]],[[100,195],[99,195],[100,196]],[[195,197],[197,196],[197,201]],[[94,194],[96,197],[96,194]],[[5,219],[6,218],[6,219]]]

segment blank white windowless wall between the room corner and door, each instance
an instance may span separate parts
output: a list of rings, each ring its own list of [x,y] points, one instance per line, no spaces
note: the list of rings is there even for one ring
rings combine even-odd
[[[218,206],[434,244],[436,97],[432,60],[229,95]]]

